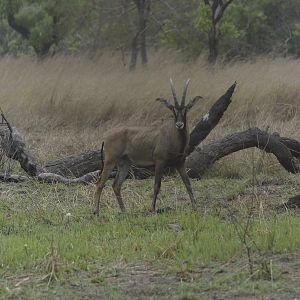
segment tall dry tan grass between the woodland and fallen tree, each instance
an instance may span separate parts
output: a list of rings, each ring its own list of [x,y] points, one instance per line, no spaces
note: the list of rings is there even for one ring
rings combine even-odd
[[[112,125],[145,125],[168,116],[154,100],[170,97],[170,77],[178,93],[191,78],[189,95],[205,98],[191,112],[192,125],[237,80],[233,102],[210,139],[250,126],[300,139],[300,61],[283,58],[210,68],[202,58],[186,62],[157,53],[146,70],[132,73],[110,55],[42,62],[2,58],[0,105],[33,147],[55,156],[98,146],[102,131]]]

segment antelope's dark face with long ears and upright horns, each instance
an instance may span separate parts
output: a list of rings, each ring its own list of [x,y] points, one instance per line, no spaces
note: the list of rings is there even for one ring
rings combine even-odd
[[[183,94],[181,98],[181,103],[179,104],[175,92],[175,87],[172,79],[170,78],[170,83],[171,83],[171,90],[172,90],[172,95],[174,99],[174,105],[170,103],[170,101],[164,99],[164,98],[157,98],[157,101],[160,101],[162,104],[164,104],[168,109],[170,109],[174,115],[174,120],[175,120],[175,126],[178,130],[183,130],[186,127],[186,115],[187,112],[196,104],[196,102],[200,99],[202,99],[201,96],[196,96],[190,100],[190,102],[185,105],[185,98],[188,90],[188,86],[190,83],[190,79],[188,79],[185,83],[184,89],[183,89]]]

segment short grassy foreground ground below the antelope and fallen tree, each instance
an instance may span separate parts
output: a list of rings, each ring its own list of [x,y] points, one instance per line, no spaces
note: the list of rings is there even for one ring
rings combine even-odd
[[[147,212],[152,180],[128,180],[123,189],[128,212],[119,212],[108,186],[99,218],[90,213],[92,185],[1,184],[0,295],[19,297],[20,289],[28,298],[37,292],[41,297],[67,293],[79,273],[87,290],[131,298],[125,278],[132,276],[127,274],[129,266],[140,264],[149,274],[168,279],[152,282],[151,275],[142,276],[142,282],[151,282],[141,291],[161,298],[169,294],[159,291],[170,284],[176,297],[186,299],[203,291],[208,298],[229,291],[231,296],[274,290],[300,293],[290,278],[299,270],[300,216],[276,208],[299,189],[299,177],[276,180],[274,184],[274,178],[261,175],[255,186],[250,178],[194,181],[199,209],[193,212],[178,178],[166,178],[158,206],[171,209],[161,214]],[[253,275],[241,238],[250,207],[253,217],[246,242]],[[295,257],[290,261],[293,271],[286,274],[281,267],[284,257]],[[24,276],[29,283],[16,287]]]

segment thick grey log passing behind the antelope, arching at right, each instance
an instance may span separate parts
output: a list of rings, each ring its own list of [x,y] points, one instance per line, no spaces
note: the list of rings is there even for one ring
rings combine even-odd
[[[201,178],[217,160],[231,153],[251,147],[257,147],[265,152],[273,153],[279,163],[288,172],[299,173],[300,167],[295,159],[298,158],[298,152],[289,150],[290,145],[297,144],[299,144],[298,141],[285,137],[281,138],[277,133],[270,134],[258,128],[250,128],[246,131],[234,133],[220,140],[197,147],[195,151],[187,157],[188,175],[192,178]],[[88,159],[85,159],[85,157]],[[101,158],[101,150],[89,151],[78,156],[72,155],[56,161],[54,169],[51,169],[51,167],[49,169],[49,165],[51,166],[53,163],[48,163],[45,169],[58,174],[68,174],[71,170],[72,174],[75,173],[83,176],[81,173],[81,165],[84,165],[85,172],[86,170],[95,172],[94,170],[99,170],[99,166],[100,168],[102,167]],[[153,168],[133,167],[131,177],[144,179],[153,174]]]

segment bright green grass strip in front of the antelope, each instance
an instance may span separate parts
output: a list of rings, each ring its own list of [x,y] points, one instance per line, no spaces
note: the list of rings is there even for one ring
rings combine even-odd
[[[243,255],[235,227],[218,216],[190,211],[167,215],[136,216],[105,213],[93,220],[76,218],[66,224],[51,224],[49,219],[26,214],[7,220],[1,214],[2,268],[17,271],[32,268],[49,251],[53,241],[61,262],[81,264],[100,259],[105,263],[124,260],[172,264],[175,270],[182,261],[191,266],[211,261],[226,262]],[[45,224],[49,220],[50,224]],[[261,251],[297,253],[300,250],[300,217],[282,215],[276,220],[255,220],[251,235]],[[176,232],[168,224],[180,224]]]

